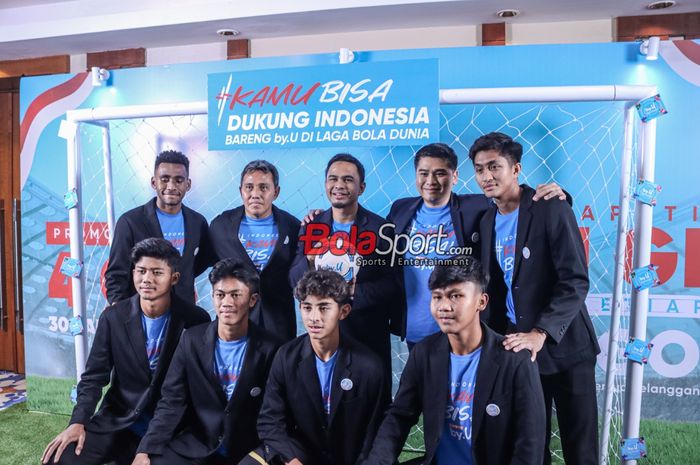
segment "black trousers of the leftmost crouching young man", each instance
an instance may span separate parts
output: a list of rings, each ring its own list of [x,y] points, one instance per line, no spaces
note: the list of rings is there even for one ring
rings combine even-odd
[[[61,454],[60,465],[131,465],[141,438],[131,430],[110,433],[85,432],[85,443],[80,455],[75,455],[77,443],[71,443]]]

